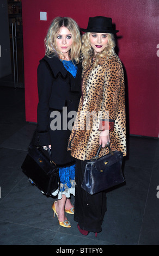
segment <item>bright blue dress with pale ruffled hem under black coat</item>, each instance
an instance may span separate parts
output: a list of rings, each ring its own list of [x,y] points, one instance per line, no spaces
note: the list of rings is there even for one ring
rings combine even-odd
[[[72,63],[72,60],[61,60],[65,69],[68,70],[72,76],[76,77],[77,66]],[[59,177],[60,177],[60,191],[54,191],[53,196],[56,196],[58,193],[58,199],[62,198],[62,194],[65,194],[66,197],[70,197],[70,194],[75,196],[75,164],[72,166],[65,166],[59,168]]]

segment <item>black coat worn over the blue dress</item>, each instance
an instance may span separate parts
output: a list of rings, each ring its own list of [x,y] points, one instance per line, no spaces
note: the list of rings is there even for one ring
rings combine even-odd
[[[45,56],[38,66],[36,139],[41,146],[51,145],[52,159],[57,164],[68,164],[75,160],[67,148],[71,133],[68,124],[70,121],[73,125],[81,97],[81,63],[77,67],[74,78],[58,57]]]

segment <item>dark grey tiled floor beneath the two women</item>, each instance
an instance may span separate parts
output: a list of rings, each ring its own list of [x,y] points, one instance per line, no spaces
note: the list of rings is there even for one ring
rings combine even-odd
[[[107,193],[102,232],[83,236],[72,215],[71,228],[58,225],[51,209],[54,199],[42,195],[22,173],[35,130],[35,124],[25,121],[24,89],[0,87],[0,93],[1,245],[159,245],[158,139],[128,138],[126,184]]]

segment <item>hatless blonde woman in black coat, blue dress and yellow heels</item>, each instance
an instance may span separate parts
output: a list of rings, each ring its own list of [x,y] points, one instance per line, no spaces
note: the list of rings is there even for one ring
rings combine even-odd
[[[59,224],[70,228],[65,212],[74,214],[69,198],[75,194],[75,162],[67,147],[81,95],[82,71],[77,23],[69,17],[56,17],[45,45],[46,54],[38,66],[38,144],[51,148],[52,159],[59,166],[60,192],[52,209]]]

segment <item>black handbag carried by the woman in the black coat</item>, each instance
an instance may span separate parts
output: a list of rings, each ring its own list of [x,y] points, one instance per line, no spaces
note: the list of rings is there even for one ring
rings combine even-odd
[[[42,153],[41,147],[30,144],[28,154],[22,163],[23,173],[46,195],[59,188],[59,170],[52,161],[51,150],[47,147],[50,159]]]

